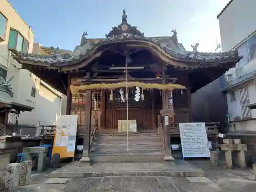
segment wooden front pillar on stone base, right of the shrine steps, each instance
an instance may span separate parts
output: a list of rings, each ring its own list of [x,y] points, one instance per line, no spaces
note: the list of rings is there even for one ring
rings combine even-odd
[[[165,84],[166,81],[163,79],[163,84]],[[162,101],[163,101],[163,109],[168,108],[168,100],[167,97],[170,95],[169,91],[163,91],[162,92]],[[172,157],[172,150],[170,147],[170,118],[168,116],[163,117],[163,132],[164,132],[164,160],[165,161],[173,161],[174,158]]]

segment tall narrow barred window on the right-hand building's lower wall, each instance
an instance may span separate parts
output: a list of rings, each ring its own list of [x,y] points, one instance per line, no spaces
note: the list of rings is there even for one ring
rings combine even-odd
[[[246,86],[239,89],[239,97],[240,97],[242,117],[243,118],[251,117],[251,111],[247,107],[247,105],[250,104],[250,100],[248,95],[248,88]]]

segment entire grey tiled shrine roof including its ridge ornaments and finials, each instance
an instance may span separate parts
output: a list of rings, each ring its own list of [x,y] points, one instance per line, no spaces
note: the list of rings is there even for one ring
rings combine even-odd
[[[127,15],[125,14],[125,10],[123,10],[122,23],[117,27],[112,27],[112,30],[108,34],[105,34],[106,38],[88,39],[86,38],[88,34],[85,32],[82,34],[80,45],[76,46],[72,53],[61,55],[58,52],[59,49],[56,48],[52,55],[20,53],[15,59],[20,63],[30,65],[62,68],[92,58],[92,55],[96,54],[102,46],[117,43],[126,44],[127,42],[138,45],[147,44],[152,50],[161,50],[160,52],[167,58],[165,59],[167,62],[170,61],[170,63],[173,63],[172,59],[175,59],[193,63],[194,67],[210,66],[212,63],[231,62],[242,58],[238,56],[237,51],[223,53],[198,52],[197,47],[199,44],[191,46],[194,51],[186,51],[184,46],[178,42],[177,31],[173,29],[172,32],[172,36],[146,37],[137,27],[127,23]]]

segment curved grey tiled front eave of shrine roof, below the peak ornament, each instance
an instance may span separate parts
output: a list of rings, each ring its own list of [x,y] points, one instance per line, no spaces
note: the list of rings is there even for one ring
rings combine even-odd
[[[98,39],[92,43],[90,39],[88,42],[83,46],[76,46],[73,54],[67,55],[38,55],[38,54],[28,54],[28,53],[20,53],[17,60],[25,60],[31,61],[35,64],[40,66],[50,67],[50,66],[67,66],[74,63],[77,63],[83,59],[89,58],[94,51],[97,50],[98,47],[111,44],[114,42],[122,42],[122,41],[135,41],[138,42],[146,41],[150,42],[151,44],[155,45],[162,49],[166,55],[170,57],[174,57],[178,60],[182,61],[189,61],[189,62],[196,62],[199,65],[204,63],[211,63],[211,62],[225,62],[230,61],[232,58],[239,58],[238,52],[222,52],[222,53],[204,53],[204,52],[197,52],[197,51],[186,51],[182,44],[175,44],[172,39],[168,39],[169,37],[144,37],[144,36],[133,36],[129,34],[122,34],[119,36]],[[164,43],[160,43],[164,42]],[[242,58],[242,57],[241,57]]]

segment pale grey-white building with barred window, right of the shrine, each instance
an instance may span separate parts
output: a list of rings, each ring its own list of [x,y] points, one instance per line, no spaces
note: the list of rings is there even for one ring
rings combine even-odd
[[[229,132],[256,131],[256,1],[231,0],[217,16],[222,50],[243,59],[226,73]]]

